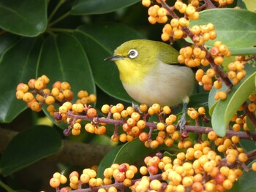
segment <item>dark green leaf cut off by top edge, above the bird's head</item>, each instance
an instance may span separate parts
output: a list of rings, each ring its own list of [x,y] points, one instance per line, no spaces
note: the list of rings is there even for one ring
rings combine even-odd
[[[117,9],[128,7],[140,0],[77,0],[72,6],[71,15],[91,15],[113,12]]]

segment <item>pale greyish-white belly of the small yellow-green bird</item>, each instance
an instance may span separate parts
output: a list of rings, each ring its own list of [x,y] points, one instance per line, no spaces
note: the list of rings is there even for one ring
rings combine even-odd
[[[195,76],[192,69],[186,66],[160,64],[153,72],[146,74],[143,81],[124,88],[129,96],[141,104],[151,106],[154,103],[173,106],[180,104],[192,93]]]

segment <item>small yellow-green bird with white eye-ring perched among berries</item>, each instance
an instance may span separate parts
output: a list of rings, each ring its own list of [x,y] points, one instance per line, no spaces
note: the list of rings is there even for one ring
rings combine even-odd
[[[164,42],[130,40],[105,60],[115,61],[124,89],[140,104],[163,107],[189,101],[195,75],[178,64],[178,51]]]

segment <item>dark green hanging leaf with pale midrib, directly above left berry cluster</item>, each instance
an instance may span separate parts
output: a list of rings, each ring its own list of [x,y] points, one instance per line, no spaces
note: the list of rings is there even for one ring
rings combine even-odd
[[[49,86],[58,80],[69,82],[74,93],[73,100],[78,99],[77,93],[80,90],[96,94],[94,77],[87,55],[78,39],[72,35],[59,34],[45,39],[39,58],[37,76],[42,74],[50,78]],[[49,116],[45,108],[44,111]],[[57,125],[61,126],[60,123]],[[66,128],[67,124],[63,123],[62,126]]]

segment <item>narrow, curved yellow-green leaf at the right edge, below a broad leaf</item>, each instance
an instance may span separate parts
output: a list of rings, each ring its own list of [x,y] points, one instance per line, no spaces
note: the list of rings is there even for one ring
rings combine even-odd
[[[220,137],[225,136],[230,119],[246,101],[249,94],[255,91],[255,68],[252,66],[246,67],[246,77],[244,80],[238,85],[233,86],[230,93],[227,94],[225,101],[218,101],[212,114],[212,126]]]

